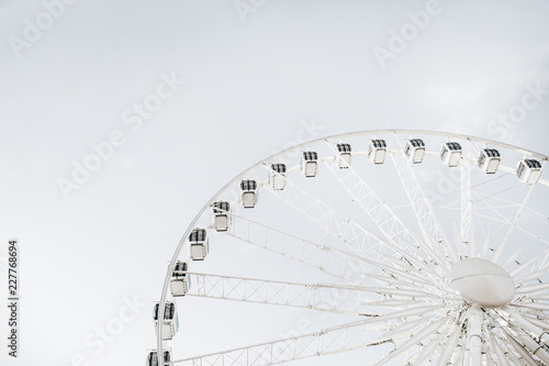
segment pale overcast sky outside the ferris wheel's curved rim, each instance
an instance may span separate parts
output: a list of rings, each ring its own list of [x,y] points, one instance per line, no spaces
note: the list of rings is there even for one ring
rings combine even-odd
[[[18,237],[22,299],[21,357],[3,341],[0,363],[143,364],[187,225],[290,145],[404,127],[549,154],[548,14],[547,1],[0,0],[0,266]],[[117,146],[68,189],[105,141]],[[3,306],[0,319],[5,334]]]

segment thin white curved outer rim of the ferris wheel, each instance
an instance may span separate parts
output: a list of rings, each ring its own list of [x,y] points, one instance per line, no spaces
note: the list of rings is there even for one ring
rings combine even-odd
[[[225,192],[232,185],[234,185],[235,182],[237,182],[239,179],[242,179],[243,177],[245,177],[248,173],[253,171],[257,167],[259,167],[261,165],[265,165],[266,163],[276,160],[277,157],[283,156],[284,154],[292,153],[292,152],[295,152],[295,151],[300,151],[303,147],[307,147],[310,145],[314,145],[316,143],[324,142],[324,141],[327,142],[327,141],[334,141],[334,140],[345,138],[345,137],[357,137],[357,136],[362,136],[362,135],[377,135],[377,134],[394,134],[394,135],[405,135],[405,134],[414,135],[414,134],[418,134],[418,135],[429,135],[429,136],[456,137],[456,138],[459,138],[459,140],[467,140],[467,141],[470,141],[470,142],[484,143],[484,144],[490,144],[490,145],[497,146],[497,147],[503,147],[503,148],[506,148],[506,149],[509,149],[509,151],[522,153],[524,155],[529,155],[531,157],[539,158],[539,159],[541,159],[544,162],[548,162],[549,160],[549,156],[548,155],[545,155],[545,154],[541,154],[541,153],[538,153],[538,152],[535,152],[535,151],[530,151],[530,149],[527,149],[527,148],[524,148],[524,147],[520,147],[520,146],[517,146],[517,145],[502,143],[502,142],[497,142],[497,141],[485,138],[485,137],[479,137],[479,136],[473,136],[473,135],[468,135],[468,134],[460,134],[460,133],[455,133],[455,132],[444,132],[444,131],[435,131],[435,130],[414,130],[414,129],[360,130],[360,131],[355,131],[355,132],[347,132],[347,133],[334,134],[334,135],[322,136],[322,137],[318,137],[318,138],[306,141],[306,142],[303,142],[303,143],[290,146],[288,148],[284,148],[282,151],[279,151],[277,153],[273,153],[273,154],[271,154],[271,155],[269,155],[269,156],[267,156],[267,157],[258,160],[257,163],[250,165],[248,168],[244,169],[239,174],[237,174],[227,184],[225,184],[220,190],[217,190],[208,200],[208,202],[200,209],[200,211],[194,215],[192,222],[188,225],[188,228],[184,231],[181,240],[179,241],[178,246],[177,246],[177,248],[176,248],[176,251],[173,253],[173,256],[172,256],[172,258],[170,260],[170,264],[169,264],[169,266],[167,268],[167,273],[166,273],[166,277],[165,277],[165,281],[164,281],[164,286],[163,286],[163,291],[161,291],[161,297],[160,297],[160,301],[159,301],[158,319],[163,319],[164,318],[164,311],[165,311],[165,306],[166,306],[166,301],[167,301],[167,298],[168,298],[168,290],[169,290],[169,285],[170,285],[171,273],[175,269],[175,266],[177,264],[177,260],[179,258],[181,249],[184,246],[187,237],[190,235],[190,233],[192,232],[193,228],[199,222],[199,220],[203,217],[203,214],[212,207],[212,204],[215,202],[215,200],[223,192]],[[164,340],[163,340],[163,336],[161,336],[161,334],[163,334],[163,325],[164,325],[163,323],[164,323],[163,321],[158,321],[157,348],[156,348],[158,355],[161,355],[163,352],[164,352],[164,344],[163,344]],[[159,357],[158,362],[159,362],[158,365],[165,366],[164,357]]]

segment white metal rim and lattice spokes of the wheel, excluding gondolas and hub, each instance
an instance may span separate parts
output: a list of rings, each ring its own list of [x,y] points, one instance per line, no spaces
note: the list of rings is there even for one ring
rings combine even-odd
[[[239,182],[240,179],[251,171],[271,162],[276,162],[278,157],[284,154],[306,149],[323,141],[334,146],[334,143],[337,141],[356,136],[391,134],[396,136],[397,141],[403,140],[401,137],[407,135],[413,135],[414,137],[440,136],[447,140],[452,138],[461,142],[469,141],[471,144],[489,144],[490,146],[500,147],[502,149],[522,153],[530,158],[539,159],[540,162],[549,160],[549,157],[546,155],[486,138],[417,130],[382,130],[347,133],[318,138],[282,151],[269,158],[258,162],[256,165],[236,176],[206,202],[204,208],[194,218],[182,236],[183,239],[177,246],[168,268],[160,297],[160,303],[163,306],[159,307],[159,319],[164,318],[164,303],[166,303],[168,298],[171,273],[176,262],[182,253],[181,251],[187,245],[187,237],[199,223],[204,212],[210,209],[214,201],[222,197],[223,192]],[[351,155],[361,154],[361,149],[357,148],[358,146],[355,144],[352,146],[354,153]],[[429,146],[426,147],[427,149],[429,148]],[[436,155],[438,146],[430,147],[435,151],[432,155]],[[332,235],[340,243],[344,243],[349,252],[329,246],[322,246],[313,241],[294,237],[289,233],[279,231],[283,237],[294,243],[299,243],[299,249],[291,254],[284,249],[283,243],[272,243],[268,240],[259,243],[250,237],[245,237],[245,235],[239,235],[236,230],[238,225],[243,224],[262,226],[266,231],[276,231],[277,229],[269,228],[233,213],[229,213],[232,225],[229,230],[223,234],[278,253],[292,260],[306,264],[307,266],[318,268],[329,274],[335,279],[345,280],[348,285],[307,285],[189,273],[190,276],[195,277],[193,280],[195,288],[192,288],[188,295],[225,300],[303,307],[323,311],[366,315],[368,318],[360,322],[335,326],[320,333],[307,334],[301,337],[247,346],[198,358],[172,361],[171,364],[182,363],[183,365],[202,365],[202,362],[206,362],[208,365],[225,365],[226,362],[231,361],[232,365],[256,365],[256,362],[264,361],[265,363],[262,364],[267,365],[287,362],[289,359],[300,359],[312,355],[329,354],[385,343],[393,343],[396,348],[388,354],[386,357],[379,361],[379,365],[395,361],[403,355],[405,355],[406,359],[413,365],[428,361],[437,362],[438,364],[463,362],[467,365],[489,365],[493,363],[502,365],[518,365],[524,363],[537,364],[538,361],[547,363],[549,359],[549,334],[547,333],[547,329],[549,329],[549,287],[546,286],[546,284],[533,285],[531,282],[538,278],[537,276],[542,276],[549,269],[549,249],[546,249],[541,255],[533,257],[526,263],[512,267],[509,274],[516,277],[517,280],[520,279],[520,281],[517,282],[519,287],[517,291],[518,298],[515,302],[502,309],[479,309],[474,306],[460,308],[458,303],[462,300],[460,300],[456,293],[452,293],[448,286],[442,284],[444,278],[440,278],[440,274],[448,270],[451,264],[460,258],[490,254],[490,237],[486,237],[483,245],[477,246],[472,237],[474,229],[471,207],[475,197],[471,189],[471,162],[469,162],[466,155],[467,148],[463,147],[463,144],[462,148],[463,155],[460,162],[461,220],[459,225],[460,229],[457,230],[458,240],[453,243],[449,241],[445,230],[438,222],[437,214],[434,212],[429,199],[422,190],[413,165],[403,154],[402,145],[400,149],[388,149],[388,154],[392,158],[393,166],[402,181],[403,190],[406,192],[411,207],[416,214],[417,222],[421,226],[421,236],[410,229],[404,220],[399,218],[390,207],[384,204],[382,199],[368,187],[352,167],[348,169],[338,169],[334,164],[334,154],[324,159],[324,163],[326,163],[325,166],[338,179],[341,186],[345,187],[349,195],[354,197],[357,203],[365,210],[365,213],[378,224],[381,235],[363,228],[359,222],[345,217],[335,208],[326,204],[321,199],[309,193],[305,189],[299,187],[292,181],[291,175],[287,177],[284,190],[270,190],[268,185],[264,185],[262,189],[271,191],[271,193],[287,202],[293,210],[302,213],[303,217],[316,224],[325,234]],[[426,152],[425,157],[427,158],[428,155],[429,153]],[[320,162],[322,162],[321,158]],[[289,171],[290,170],[289,168]],[[498,171],[500,170],[507,173],[516,171],[515,168],[505,166],[501,166]],[[513,220],[503,220],[504,223],[511,222],[511,225],[503,237],[496,242],[496,248],[490,257],[492,260],[502,260],[502,256],[504,255],[503,248],[505,248],[513,232],[520,229],[518,225],[519,218],[523,213],[527,212],[528,199],[534,189],[540,185],[549,186],[549,181],[547,179],[540,179],[537,185],[531,186],[523,202],[515,211],[516,214]],[[491,209],[496,210],[493,207]],[[520,249],[516,253],[519,252]],[[507,257],[505,257],[506,265],[511,266],[513,264],[517,255],[516,253],[508,254]],[[429,258],[429,260],[424,260],[424,258]],[[362,282],[352,284],[352,279],[345,275],[345,268],[350,264],[361,268],[361,270],[369,276],[369,279],[385,284],[386,287],[380,286],[376,288],[363,286]],[[371,268],[376,270],[370,270]],[[380,271],[386,276],[380,276]],[[255,289],[253,292],[258,298],[256,300],[251,299],[246,289]],[[332,303],[332,307],[327,307],[326,303],[321,301],[324,297],[320,293],[326,296],[325,293],[329,293],[330,290],[341,289],[345,289],[349,293],[354,293],[354,296],[346,298],[341,303]],[[258,291],[261,296],[258,296]],[[276,295],[280,295],[280,291],[285,291],[285,300],[276,301]],[[290,297],[289,293],[291,292],[295,296]],[[365,300],[365,298],[362,298],[363,293],[376,293],[379,300],[372,300],[371,297],[367,297]],[[405,307],[405,304],[410,303],[413,299],[422,297],[440,300],[441,302],[439,303],[442,303],[442,306],[424,308],[413,307],[411,309]],[[347,301],[349,299],[350,301]],[[343,306],[348,308],[341,308]],[[380,306],[384,309],[392,308],[392,310],[385,313],[369,313],[366,311],[367,308],[365,308],[365,306]],[[457,312],[449,310],[456,309],[457,307],[462,310]],[[429,314],[437,314],[437,317],[429,318]],[[405,322],[403,321],[404,319],[406,319]],[[382,320],[382,322],[380,322],[380,320]],[[392,332],[392,335],[384,339],[378,339],[376,342],[371,342],[369,339],[367,340],[367,333],[376,329],[376,326],[381,326],[381,324],[392,329],[392,331],[388,332],[388,334]],[[161,333],[163,322],[159,322],[158,325],[159,333]],[[360,342],[350,342],[347,344],[345,342],[334,341],[348,340],[350,331],[355,332],[355,335],[359,334],[361,336],[358,337]],[[440,334],[444,333],[445,336],[433,336],[435,331]],[[325,339],[328,334],[337,335],[332,339],[338,344],[337,347],[325,347]],[[401,336],[408,334],[412,335],[412,337],[396,344],[394,340],[399,337],[399,334]],[[357,340],[357,337],[354,336],[352,340]],[[482,342],[482,340],[484,340],[484,342]],[[157,337],[157,352],[158,354],[163,354],[165,345],[161,337]],[[312,341],[316,341],[316,343]],[[301,346],[302,343],[300,342],[305,342],[307,346]],[[314,346],[311,347],[313,343]],[[273,353],[276,346],[279,346],[280,350],[289,350],[282,353],[284,357],[276,357]],[[245,361],[242,358],[243,355],[246,355]],[[164,365],[164,361],[161,361],[159,365]]]

